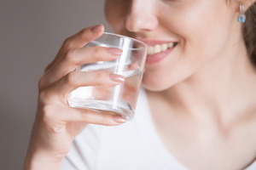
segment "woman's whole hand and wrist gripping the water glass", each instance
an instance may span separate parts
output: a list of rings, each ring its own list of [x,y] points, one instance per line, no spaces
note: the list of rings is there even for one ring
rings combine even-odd
[[[94,26],[68,37],[55,59],[46,68],[38,88],[38,111],[26,156],[26,169],[58,169],[70,150],[73,139],[88,123],[120,125],[125,118],[69,107],[69,94],[82,86],[118,85],[124,77],[106,71],[75,71],[79,65],[117,59],[118,48],[84,48],[103,33]]]

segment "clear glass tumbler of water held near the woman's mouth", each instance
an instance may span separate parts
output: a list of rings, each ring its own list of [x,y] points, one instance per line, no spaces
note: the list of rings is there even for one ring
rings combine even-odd
[[[134,116],[143,78],[147,45],[131,37],[103,33],[86,47],[120,48],[123,54],[113,61],[80,65],[79,71],[110,71],[125,77],[125,82],[113,87],[81,87],[74,90],[69,105],[102,113],[118,114],[128,121]],[[84,77],[86,78],[86,77]]]

